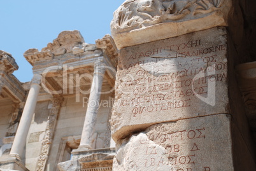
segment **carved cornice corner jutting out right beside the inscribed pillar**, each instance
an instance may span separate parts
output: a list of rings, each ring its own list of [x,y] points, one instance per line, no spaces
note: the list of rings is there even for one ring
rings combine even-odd
[[[96,46],[97,48],[101,48],[104,51],[104,54],[106,54],[111,62],[113,62],[113,65],[117,67],[118,50],[115,41],[110,34],[106,34],[102,39],[97,39]]]

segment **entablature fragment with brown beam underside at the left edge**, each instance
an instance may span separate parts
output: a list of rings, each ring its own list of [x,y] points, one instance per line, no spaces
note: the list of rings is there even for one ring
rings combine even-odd
[[[13,76],[13,71],[18,69],[15,59],[10,53],[0,50],[0,101],[10,99],[14,103],[22,102],[25,90],[20,81]]]

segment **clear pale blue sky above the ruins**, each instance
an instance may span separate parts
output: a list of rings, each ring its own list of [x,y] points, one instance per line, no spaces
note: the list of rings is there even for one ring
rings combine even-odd
[[[19,69],[14,75],[31,81],[32,66],[23,53],[45,47],[62,31],[78,30],[86,43],[110,34],[113,12],[124,0],[44,0],[0,1],[0,50],[15,58]]]

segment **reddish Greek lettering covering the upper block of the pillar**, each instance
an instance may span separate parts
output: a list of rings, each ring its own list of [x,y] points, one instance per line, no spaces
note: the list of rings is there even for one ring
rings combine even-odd
[[[218,102],[212,87],[220,88],[227,81],[225,41],[215,44],[195,36],[151,44],[121,51],[124,55],[120,68],[129,74],[119,78],[120,93],[127,94],[117,100],[119,107],[131,107],[134,118],[180,109],[190,111],[194,103],[224,109],[217,107],[223,103],[215,105]],[[192,137],[193,132],[188,136]]]

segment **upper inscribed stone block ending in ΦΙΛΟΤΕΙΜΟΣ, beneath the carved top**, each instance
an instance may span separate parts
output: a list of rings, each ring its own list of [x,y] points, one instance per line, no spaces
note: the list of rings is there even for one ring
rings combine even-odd
[[[229,113],[224,27],[131,46],[119,55],[114,140],[155,123]]]

